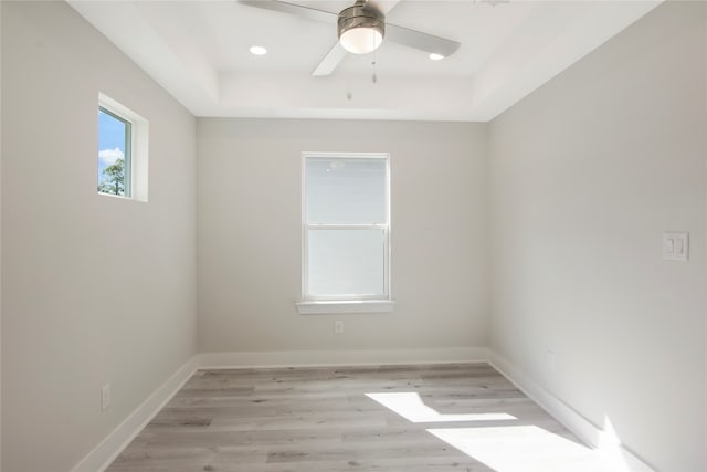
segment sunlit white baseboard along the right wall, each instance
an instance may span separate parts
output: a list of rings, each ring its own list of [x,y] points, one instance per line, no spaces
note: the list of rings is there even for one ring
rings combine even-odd
[[[612,438],[611,434],[608,434],[545,388],[540,387],[517,366],[500,357],[492,349],[487,349],[487,361],[580,440],[615,460],[618,470],[626,472],[655,472],[655,469],[652,469],[643,460],[634,455],[618,442],[615,438]]]

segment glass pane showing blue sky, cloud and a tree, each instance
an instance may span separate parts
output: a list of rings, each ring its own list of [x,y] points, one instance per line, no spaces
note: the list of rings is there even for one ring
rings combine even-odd
[[[98,108],[99,192],[129,197],[129,149],[130,123]]]

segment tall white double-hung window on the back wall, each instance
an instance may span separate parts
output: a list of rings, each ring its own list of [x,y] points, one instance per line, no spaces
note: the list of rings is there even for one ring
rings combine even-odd
[[[387,312],[390,157],[303,154],[300,313]]]

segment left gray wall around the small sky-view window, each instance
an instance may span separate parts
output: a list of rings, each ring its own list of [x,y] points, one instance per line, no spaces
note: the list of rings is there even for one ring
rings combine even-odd
[[[194,353],[196,123],[64,2],[1,8],[2,469],[66,471]],[[99,91],[150,122],[148,203],[96,193]]]

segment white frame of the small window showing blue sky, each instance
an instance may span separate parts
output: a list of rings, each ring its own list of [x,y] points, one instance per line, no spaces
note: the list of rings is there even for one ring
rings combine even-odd
[[[130,125],[127,132],[129,143],[125,146],[125,195],[116,196],[101,191],[98,195],[147,202],[149,122],[103,93],[98,94],[98,109],[104,109]]]

